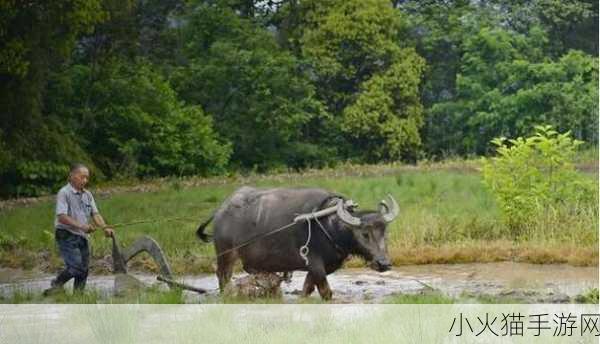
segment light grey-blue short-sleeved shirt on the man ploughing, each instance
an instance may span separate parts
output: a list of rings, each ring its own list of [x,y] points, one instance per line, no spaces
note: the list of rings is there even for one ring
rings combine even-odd
[[[82,232],[81,229],[58,222],[58,216],[63,214],[68,215],[81,224],[89,224],[92,215],[98,214],[94,196],[85,189],[83,191],[78,191],[71,183],[63,186],[56,195],[56,217],[54,218],[54,227],[65,229],[87,239],[87,233]]]

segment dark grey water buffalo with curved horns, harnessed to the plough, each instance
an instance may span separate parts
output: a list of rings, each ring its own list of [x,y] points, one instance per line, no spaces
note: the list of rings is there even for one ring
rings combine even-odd
[[[305,260],[300,248],[307,242],[309,223],[298,215],[313,213],[320,217],[310,220],[311,238]],[[199,226],[196,235],[209,242],[204,229],[214,220],[221,291],[240,258],[248,273],[308,271],[302,295],[310,295],[316,286],[321,298],[328,300],[332,292],[327,275],[349,255],[363,257],[377,271],[390,269],[386,226],[398,213],[398,204],[391,196],[389,202],[381,201],[378,211],[358,211],[342,196],[323,189],[242,187]],[[292,225],[288,228],[263,236],[289,224]]]

